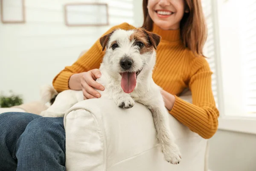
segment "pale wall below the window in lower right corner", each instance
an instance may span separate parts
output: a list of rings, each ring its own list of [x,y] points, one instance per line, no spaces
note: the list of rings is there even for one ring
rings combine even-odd
[[[209,140],[211,171],[256,171],[256,135],[218,131]]]

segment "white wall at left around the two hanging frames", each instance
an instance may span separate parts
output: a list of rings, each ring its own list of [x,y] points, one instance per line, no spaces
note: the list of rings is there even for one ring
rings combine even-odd
[[[139,0],[137,0],[138,2]],[[110,26],[67,27],[64,4],[107,2]],[[0,93],[23,95],[24,102],[39,100],[39,87],[65,66],[73,64],[111,26],[134,25],[133,0],[26,0],[26,23],[0,22]],[[15,4],[13,4],[15,6]]]

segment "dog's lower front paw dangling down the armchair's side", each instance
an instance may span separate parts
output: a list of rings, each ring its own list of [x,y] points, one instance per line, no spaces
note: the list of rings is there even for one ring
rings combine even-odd
[[[176,144],[172,144],[171,146],[165,148],[163,150],[164,158],[167,162],[177,165],[181,161],[181,154],[178,146]]]

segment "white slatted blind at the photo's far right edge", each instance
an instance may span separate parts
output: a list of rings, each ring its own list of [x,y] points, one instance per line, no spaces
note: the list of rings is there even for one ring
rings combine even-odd
[[[247,114],[256,114],[256,0],[244,1],[242,14],[244,109]]]

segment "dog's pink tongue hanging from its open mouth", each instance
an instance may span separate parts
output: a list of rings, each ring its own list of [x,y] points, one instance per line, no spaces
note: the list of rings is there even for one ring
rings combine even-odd
[[[121,79],[121,87],[122,90],[124,90],[125,93],[131,93],[133,92],[135,86],[136,86],[136,73],[122,73],[122,79]]]

